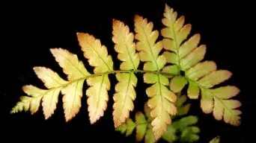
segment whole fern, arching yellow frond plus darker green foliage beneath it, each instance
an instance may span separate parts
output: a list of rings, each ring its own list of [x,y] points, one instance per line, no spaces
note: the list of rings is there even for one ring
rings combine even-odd
[[[162,19],[165,28],[161,31],[164,39],[160,41],[156,41],[159,32],[153,30],[152,22],[147,22],[141,16],[135,16],[134,22],[135,36],[124,22],[113,20],[112,41],[118,52],[118,60],[121,60],[120,70],[113,69],[112,56],[100,39],[78,33],[79,45],[89,65],[94,67],[94,73],[88,72],[76,54],[62,48],[51,48],[58,65],[67,74],[67,80],[52,69],[34,67],[35,74],[43,81],[46,89],[22,86],[27,96],[22,96],[10,113],[30,110],[34,114],[42,101],[43,114],[48,119],[55,112],[61,92],[65,119],[70,121],[82,106],[82,88],[86,80],[89,86],[86,89],[88,112],[90,122],[94,124],[107,108],[111,86],[109,74],[115,74],[118,83],[113,96],[113,121],[116,130],[127,136],[136,129],[137,142],[142,139],[145,142],[157,142],[160,138],[168,142],[198,141],[197,133],[200,130],[195,126],[198,118],[183,117],[190,108],[190,104],[185,104],[187,97],[198,99],[201,95],[203,112],[213,112],[217,120],[223,119],[228,124],[240,124],[242,112],[237,108],[241,103],[231,99],[240,89],[229,85],[216,87],[231,77],[231,71],[217,70],[213,61],[202,62],[206,45],[199,45],[200,34],[188,38],[192,26],[184,24],[184,16],[178,17],[174,9],[165,6]],[[134,39],[138,42],[135,43]],[[160,55],[163,49],[165,51]],[[140,61],[144,63],[143,70],[138,69]],[[129,112],[134,109],[133,101],[136,98],[136,73],[143,74],[144,83],[150,84],[146,89],[150,99],[144,104],[145,114],[137,112],[134,122],[129,118]],[[181,95],[186,84],[189,84],[187,95]]]

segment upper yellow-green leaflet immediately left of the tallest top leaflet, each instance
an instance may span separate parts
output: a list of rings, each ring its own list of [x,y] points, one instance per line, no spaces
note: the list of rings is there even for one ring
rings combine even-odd
[[[158,56],[162,50],[162,42],[156,42],[159,36],[158,31],[153,30],[153,23],[147,22],[141,16],[135,16],[135,39],[136,49],[139,51],[139,57],[144,64],[144,70],[159,71],[165,66],[166,60],[164,56]]]

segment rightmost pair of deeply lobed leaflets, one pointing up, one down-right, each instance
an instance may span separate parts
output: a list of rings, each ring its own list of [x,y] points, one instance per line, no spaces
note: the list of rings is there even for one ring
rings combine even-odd
[[[204,59],[206,45],[198,46],[199,34],[186,40],[191,25],[184,25],[184,22],[184,16],[177,18],[177,12],[168,5],[165,6],[164,19],[162,19],[165,28],[161,31],[162,36],[165,37],[163,47],[167,50],[164,55],[168,63],[177,65],[181,71],[185,71],[185,77],[176,76],[171,79],[171,89],[180,92],[186,83],[189,83],[187,90],[189,98],[198,98],[201,90],[201,109],[205,113],[213,112],[217,120],[224,118],[226,123],[239,125],[241,112],[236,108],[240,107],[241,103],[230,99],[239,93],[239,89],[235,86],[210,89],[228,80],[231,72],[216,70],[216,63],[213,61],[201,62]]]

